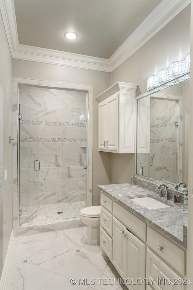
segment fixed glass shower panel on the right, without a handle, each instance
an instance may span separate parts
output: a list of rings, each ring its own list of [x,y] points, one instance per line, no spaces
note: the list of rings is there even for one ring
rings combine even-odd
[[[87,114],[63,108],[63,219],[77,218],[86,206]]]

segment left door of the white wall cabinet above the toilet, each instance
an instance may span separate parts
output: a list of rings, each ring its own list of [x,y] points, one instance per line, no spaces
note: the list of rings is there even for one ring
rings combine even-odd
[[[106,150],[107,140],[107,102],[99,103],[99,149]]]

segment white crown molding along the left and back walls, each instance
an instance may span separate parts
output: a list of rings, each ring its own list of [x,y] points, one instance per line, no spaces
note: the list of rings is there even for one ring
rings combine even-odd
[[[0,0],[0,10],[12,58],[111,72],[106,58],[19,44],[13,0]]]

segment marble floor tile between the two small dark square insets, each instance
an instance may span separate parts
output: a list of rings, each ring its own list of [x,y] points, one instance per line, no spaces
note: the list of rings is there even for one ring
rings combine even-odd
[[[27,261],[30,264],[57,273],[75,254],[76,251],[74,250],[50,243]]]

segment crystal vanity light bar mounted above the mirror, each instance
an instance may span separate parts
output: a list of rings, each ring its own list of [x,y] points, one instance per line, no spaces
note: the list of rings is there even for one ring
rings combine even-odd
[[[159,87],[169,81],[175,80],[181,77],[178,82],[187,80],[190,72],[190,54],[181,61],[176,61],[170,65],[169,68],[158,71],[158,74],[148,77],[147,79],[147,90],[152,90]]]

